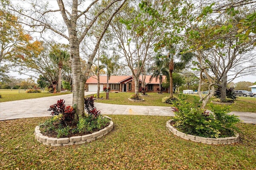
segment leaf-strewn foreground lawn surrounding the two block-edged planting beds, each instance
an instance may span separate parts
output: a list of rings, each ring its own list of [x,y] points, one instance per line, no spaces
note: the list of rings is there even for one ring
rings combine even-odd
[[[171,117],[111,115],[114,129],[83,145],[47,147],[34,128],[47,117],[0,122],[0,169],[256,169],[256,125],[239,123],[241,142],[207,145],[169,133]]]

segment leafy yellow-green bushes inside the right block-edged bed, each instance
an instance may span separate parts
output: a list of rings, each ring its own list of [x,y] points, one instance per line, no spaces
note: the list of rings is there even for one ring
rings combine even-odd
[[[175,112],[174,127],[178,130],[200,137],[231,137],[238,131],[235,124],[240,121],[235,115],[227,115],[228,106],[210,105],[212,113],[194,104],[180,101],[172,107]]]

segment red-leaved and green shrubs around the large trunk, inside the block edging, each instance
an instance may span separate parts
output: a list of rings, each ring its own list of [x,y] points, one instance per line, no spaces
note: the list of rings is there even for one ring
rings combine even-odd
[[[48,109],[54,115],[44,123],[40,124],[42,133],[57,133],[57,138],[68,137],[70,133],[87,133],[106,127],[110,120],[102,117],[100,111],[94,106],[93,96],[84,98],[84,106],[88,115],[79,117],[78,123],[73,126],[75,106],[66,106],[65,101],[60,99]],[[71,127],[73,129],[71,129]]]

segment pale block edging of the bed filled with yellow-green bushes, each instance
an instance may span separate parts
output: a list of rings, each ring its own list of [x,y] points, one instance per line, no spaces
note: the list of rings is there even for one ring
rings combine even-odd
[[[210,138],[210,137],[199,137],[194,135],[189,135],[183,132],[178,131],[175,129],[172,125],[170,125],[170,122],[173,119],[170,119],[166,122],[166,127],[169,129],[170,132],[172,132],[174,135],[181,137],[186,140],[199,142],[199,143],[206,143],[206,144],[231,144],[231,143],[238,143],[239,142],[239,134],[235,133],[235,137],[225,137],[225,138]]]

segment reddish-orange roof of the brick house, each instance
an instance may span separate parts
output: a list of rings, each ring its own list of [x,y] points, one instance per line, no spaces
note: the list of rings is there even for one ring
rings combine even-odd
[[[159,78],[156,80],[156,78],[153,78],[150,81],[151,76],[146,76],[145,83],[147,84],[159,84]],[[166,78],[166,76],[162,76],[163,80]],[[126,81],[125,81],[126,80]],[[117,84],[122,81],[128,82],[132,80],[132,76],[110,76],[110,80],[108,80],[108,83],[110,84]],[[163,81],[162,80],[162,81]],[[140,81],[142,81],[142,76],[140,76]],[[106,84],[107,83],[107,76],[100,76],[100,84]],[[86,84],[97,84],[97,76],[91,76],[87,79]]]

